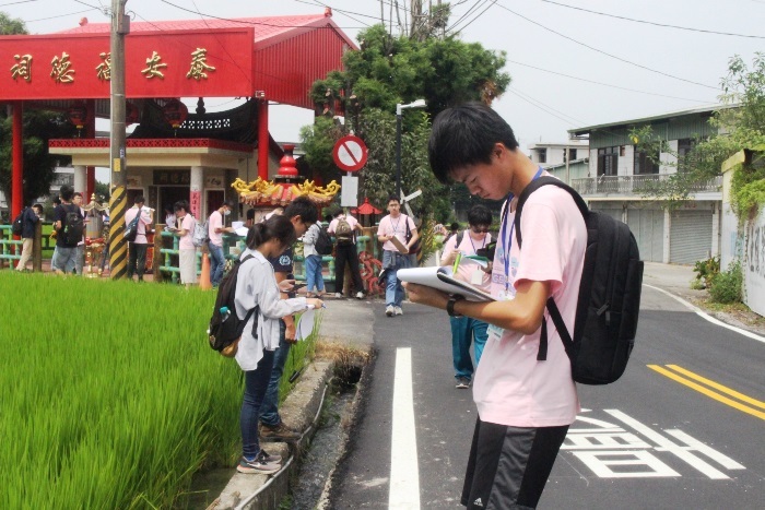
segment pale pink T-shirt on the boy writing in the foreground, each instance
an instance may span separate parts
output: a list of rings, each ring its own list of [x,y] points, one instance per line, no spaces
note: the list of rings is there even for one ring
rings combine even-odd
[[[515,204],[514,204],[515,206]],[[507,215],[510,236],[515,212]],[[507,288],[515,296],[525,280],[551,282],[552,296],[569,331],[574,330],[579,281],[587,246],[581,213],[564,190],[545,186],[531,193],[521,216],[523,248],[513,239],[505,275],[508,239],[498,239],[492,272],[492,296]],[[502,237],[501,230],[499,237]],[[507,287],[506,287],[507,283]],[[509,303],[508,303],[509,305]],[[569,425],[579,412],[570,363],[549,313],[548,359],[537,360],[541,328],[529,335],[490,327],[473,386],[483,422],[515,427]]]

